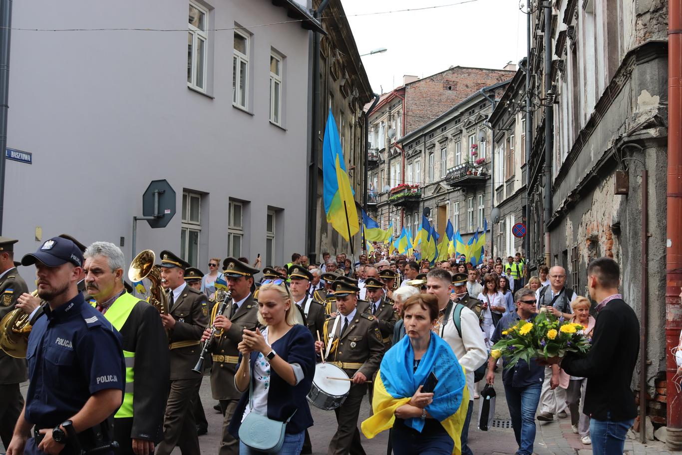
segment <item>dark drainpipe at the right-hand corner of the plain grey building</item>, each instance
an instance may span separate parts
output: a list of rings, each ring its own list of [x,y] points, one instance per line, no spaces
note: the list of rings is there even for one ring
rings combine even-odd
[[[319,8],[312,12],[312,16],[319,19],[322,12],[327,8],[329,0],[323,0]],[[310,263],[316,260],[317,240],[317,177],[319,173],[319,125],[320,125],[320,32],[314,31],[312,38],[312,128],[310,128],[312,141],[310,143],[310,164],[308,171],[308,259]]]

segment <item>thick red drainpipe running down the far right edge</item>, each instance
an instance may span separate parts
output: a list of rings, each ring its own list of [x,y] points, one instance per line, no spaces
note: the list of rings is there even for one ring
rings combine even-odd
[[[682,449],[682,400],[672,377],[674,354],[682,327],[682,0],[668,1],[668,214],[666,235],[666,379],[668,434],[671,450]]]

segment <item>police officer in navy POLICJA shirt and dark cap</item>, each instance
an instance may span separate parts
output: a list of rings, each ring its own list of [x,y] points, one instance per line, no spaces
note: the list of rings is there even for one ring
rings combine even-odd
[[[47,304],[29,336],[29,390],[8,454],[70,455],[105,445],[106,418],[123,400],[121,334],[78,292],[83,254],[74,242],[53,237],[21,263],[35,264]]]

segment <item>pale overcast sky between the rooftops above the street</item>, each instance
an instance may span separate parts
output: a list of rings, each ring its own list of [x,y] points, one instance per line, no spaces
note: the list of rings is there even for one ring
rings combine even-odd
[[[426,77],[450,66],[501,69],[526,55],[526,15],[518,0],[342,0],[376,93],[402,85],[403,74]],[[521,0],[524,1],[524,0]],[[373,12],[451,5],[421,11]]]

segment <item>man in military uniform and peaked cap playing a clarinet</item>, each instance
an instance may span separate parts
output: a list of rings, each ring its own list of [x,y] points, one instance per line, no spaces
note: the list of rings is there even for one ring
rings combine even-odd
[[[220,306],[218,304],[213,307],[213,314],[211,314],[213,325],[220,329],[211,346],[211,353],[213,353],[211,392],[213,392],[214,399],[220,400],[224,416],[219,454],[238,455],[239,441],[230,435],[227,427],[241,398],[241,392],[235,388],[235,372],[239,359],[237,344],[242,340],[244,329],[254,330],[258,325],[258,304],[251,293],[254,275],[258,273],[258,269],[233,257],[228,257],[223,261],[223,273],[228,289],[232,293],[232,299],[224,315],[216,314]],[[209,333],[210,330],[206,329],[204,337],[208,338]]]

